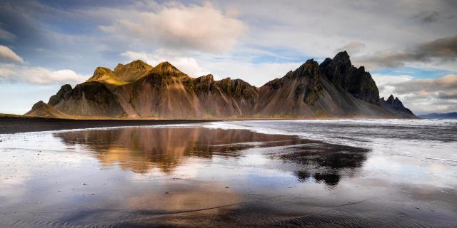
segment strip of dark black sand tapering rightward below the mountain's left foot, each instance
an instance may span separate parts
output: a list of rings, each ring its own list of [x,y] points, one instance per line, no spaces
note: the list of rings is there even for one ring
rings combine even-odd
[[[208,123],[218,120],[70,120],[0,116],[0,134],[142,125]]]

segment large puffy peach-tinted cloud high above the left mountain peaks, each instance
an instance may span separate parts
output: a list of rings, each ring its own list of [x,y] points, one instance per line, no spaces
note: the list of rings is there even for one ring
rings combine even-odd
[[[130,18],[99,26],[101,31],[162,48],[220,53],[236,45],[246,25],[211,4],[164,6],[158,12],[132,11]]]

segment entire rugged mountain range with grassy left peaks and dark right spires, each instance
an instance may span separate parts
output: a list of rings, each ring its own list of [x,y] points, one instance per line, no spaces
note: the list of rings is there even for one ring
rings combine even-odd
[[[168,62],[98,67],[64,85],[26,115],[72,118],[416,118],[398,98],[379,99],[376,83],[348,53],[313,59],[257,88],[241,79],[191,78]]]

